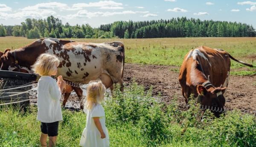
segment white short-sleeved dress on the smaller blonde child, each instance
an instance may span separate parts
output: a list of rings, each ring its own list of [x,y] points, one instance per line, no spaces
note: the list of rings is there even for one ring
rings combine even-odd
[[[82,147],[109,147],[109,135],[105,122],[105,112],[100,104],[94,104],[91,110],[84,108],[86,116],[86,127],[81,136],[80,146]],[[102,125],[102,129],[106,135],[106,138],[100,138],[101,135],[97,129],[93,117],[99,117],[99,121]]]

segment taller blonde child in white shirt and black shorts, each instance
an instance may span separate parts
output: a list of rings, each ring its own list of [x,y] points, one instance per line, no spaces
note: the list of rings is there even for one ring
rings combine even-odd
[[[47,136],[49,136],[49,147],[55,146],[58,135],[58,121],[62,121],[61,114],[61,92],[65,82],[61,76],[56,82],[52,75],[57,75],[60,61],[54,55],[41,54],[32,66],[36,74],[41,75],[38,81],[38,115],[41,121],[40,143],[47,147]]]

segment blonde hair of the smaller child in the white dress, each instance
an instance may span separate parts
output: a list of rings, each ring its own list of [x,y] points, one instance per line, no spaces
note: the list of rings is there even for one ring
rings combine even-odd
[[[88,84],[85,108],[92,109],[93,104],[99,104],[104,98],[105,86],[102,81],[93,81]]]

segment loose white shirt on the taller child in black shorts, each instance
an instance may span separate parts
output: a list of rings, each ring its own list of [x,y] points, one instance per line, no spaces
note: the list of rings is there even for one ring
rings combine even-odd
[[[50,76],[41,76],[38,81],[37,120],[44,123],[62,121],[61,91],[57,82]]]

